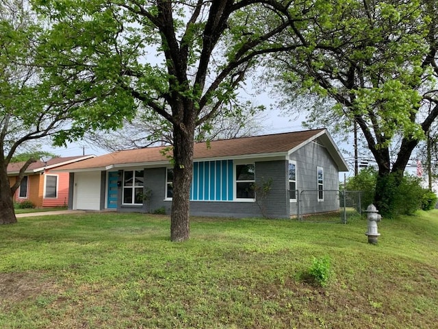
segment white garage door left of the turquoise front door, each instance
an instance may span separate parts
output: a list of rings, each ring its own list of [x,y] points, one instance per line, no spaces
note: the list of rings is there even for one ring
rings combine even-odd
[[[100,210],[101,173],[75,173],[73,209]]]

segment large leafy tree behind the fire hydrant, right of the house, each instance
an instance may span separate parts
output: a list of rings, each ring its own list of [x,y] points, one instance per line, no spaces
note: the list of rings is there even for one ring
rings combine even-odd
[[[276,76],[289,97],[306,95],[312,105],[335,101],[329,110],[310,108],[311,119],[359,127],[378,166],[374,201],[389,215],[392,186],[438,116],[437,3],[329,0],[320,5],[311,20],[294,23],[296,33],[285,37],[303,47],[276,56],[276,73],[283,69]],[[424,103],[433,104],[432,110],[424,112]]]

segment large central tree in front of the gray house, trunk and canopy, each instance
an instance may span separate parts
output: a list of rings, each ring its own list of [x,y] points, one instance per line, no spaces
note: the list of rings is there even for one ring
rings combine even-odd
[[[45,60],[62,88],[75,97],[110,101],[106,90],[117,86],[170,123],[175,165],[170,237],[188,239],[196,127],[234,97],[261,56],[294,47],[274,37],[301,19],[303,8],[274,0],[36,3],[51,19]]]

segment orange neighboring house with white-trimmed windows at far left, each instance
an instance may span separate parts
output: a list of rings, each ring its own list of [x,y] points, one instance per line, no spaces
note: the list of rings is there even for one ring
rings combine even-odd
[[[70,156],[31,163],[14,195],[14,202],[30,201],[36,208],[67,206],[70,175],[52,173],[51,170],[89,158],[94,156]],[[13,162],[8,165],[10,186],[15,184],[23,164],[25,162]]]

